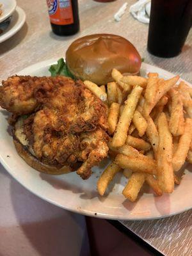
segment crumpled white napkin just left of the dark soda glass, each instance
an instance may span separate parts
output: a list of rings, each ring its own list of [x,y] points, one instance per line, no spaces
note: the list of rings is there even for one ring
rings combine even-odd
[[[150,0],[139,0],[129,8],[132,16],[143,23],[149,23]]]

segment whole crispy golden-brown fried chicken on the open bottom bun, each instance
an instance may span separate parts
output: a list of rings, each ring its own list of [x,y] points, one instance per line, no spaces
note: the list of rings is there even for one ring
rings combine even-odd
[[[45,164],[77,169],[88,179],[92,166],[108,155],[106,106],[68,77],[12,76],[0,87],[0,106],[28,115],[24,134]]]

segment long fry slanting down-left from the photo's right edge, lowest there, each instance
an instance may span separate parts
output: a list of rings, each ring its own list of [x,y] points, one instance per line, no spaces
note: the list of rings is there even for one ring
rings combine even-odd
[[[175,154],[173,155],[173,170],[179,171],[184,164],[192,138],[192,119],[186,118],[184,134],[180,136],[179,144]]]

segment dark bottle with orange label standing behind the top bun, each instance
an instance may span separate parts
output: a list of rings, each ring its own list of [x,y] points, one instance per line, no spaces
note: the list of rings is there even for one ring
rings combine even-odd
[[[60,36],[79,31],[77,0],[47,0],[52,32]]]

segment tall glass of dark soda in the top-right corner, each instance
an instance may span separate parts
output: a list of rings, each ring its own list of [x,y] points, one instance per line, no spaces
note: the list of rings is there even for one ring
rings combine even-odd
[[[192,25],[192,0],[152,0],[147,50],[155,56],[177,56]]]

